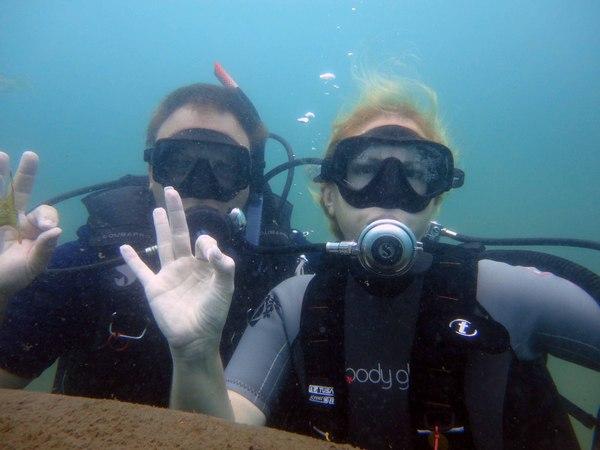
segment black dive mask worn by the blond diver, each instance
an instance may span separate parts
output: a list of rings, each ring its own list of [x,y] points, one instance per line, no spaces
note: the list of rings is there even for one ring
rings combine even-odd
[[[344,139],[325,159],[315,181],[332,181],[355,208],[417,213],[431,199],[462,186],[452,152],[409,128],[387,125]]]

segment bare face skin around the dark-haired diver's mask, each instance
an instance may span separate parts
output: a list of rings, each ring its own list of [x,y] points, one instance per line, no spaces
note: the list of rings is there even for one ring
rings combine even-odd
[[[231,137],[238,144],[250,148],[250,140],[233,114],[228,112],[218,112],[210,108],[196,110],[189,106],[184,106],[175,110],[175,112],[163,122],[158,129],[157,140],[172,137],[180,131],[190,128],[205,128],[219,131]],[[154,195],[156,204],[164,206],[164,186],[154,181],[152,178],[152,168],[149,168],[149,175],[150,190]],[[184,197],[182,199],[183,207],[189,209],[195,206],[208,206],[223,213],[228,213],[233,208],[243,208],[248,201],[248,194],[249,188],[246,188],[238,192],[238,194],[228,202],[220,202],[214,199]]]

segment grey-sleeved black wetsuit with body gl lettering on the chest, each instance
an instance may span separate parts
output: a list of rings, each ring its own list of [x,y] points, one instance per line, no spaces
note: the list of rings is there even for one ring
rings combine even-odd
[[[299,387],[293,356],[310,281],[311,276],[295,277],[271,291],[226,369],[228,389],[254,403],[268,423],[280,424],[279,416],[294,409],[290,395]],[[398,423],[401,420],[389,414],[409,395],[411,387],[410,353],[403,353],[396,344],[412,339],[412,335],[403,335],[403,318],[411,311],[414,314],[415,309],[410,306],[410,287],[406,298],[390,302],[367,295],[352,281],[346,289],[344,313],[346,330],[353,330],[346,333],[344,341],[351,398],[348,423],[353,434],[349,440],[360,444],[375,439],[371,446],[383,447],[377,436],[389,433],[390,427],[398,433],[415,432],[407,428],[408,421]],[[543,365],[545,355],[551,353],[600,370],[600,306],[581,288],[550,273],[491,260],[478,263],[476,282],[477,302],[508,331],[519,364]],[[490,375],[475,380],[484,395],[486,382],[492,379]],[[515,392],[518,399],[519,391]],[[505,411],[511,407],[506,405]],[[533,407],[547,405],[539,399]],[[536,411],[526,414],[535,418]],[[510,436],[505,445],[511,448],[508,442]]]

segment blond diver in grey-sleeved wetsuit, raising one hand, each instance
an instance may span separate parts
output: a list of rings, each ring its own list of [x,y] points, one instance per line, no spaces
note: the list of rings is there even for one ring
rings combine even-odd
[[[373,86],[334,125],[315,181],[344,241],[267,295],[226,370],[235,264],[209,236],[192,251],[175,190],[155,211],[160,271],[121,248],[170,344],[171,406],[363,448],[578,448],[545,360],[600,370],[598,277],[439,242],[460,238],[431,220],[464,174],[403,92]]]

